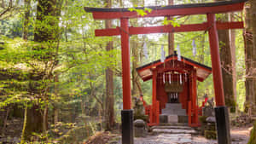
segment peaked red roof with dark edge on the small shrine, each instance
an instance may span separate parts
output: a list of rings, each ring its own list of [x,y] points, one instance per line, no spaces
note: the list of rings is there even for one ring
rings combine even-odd
[[[137,72],[139,76],[143,79],[143,81],[147,81],[148,79],[152,78],[152,75],[153,75],[152,69],[156,68],[157,66],[163,65],[164,63],[170,60],[177,60],[176,52],[173,55],[167,56],[165,62],[161,62],[160,60],[155,60],[146,65],[137,67]],[[195,60],[191,60],[189,58],[181,56],[180,61],[189,66],[193,66],[193,68],[196,69],[197,79],[201,82],[204,81],[212,73],[211,67],[203,65],[199,62],[196,62]]]

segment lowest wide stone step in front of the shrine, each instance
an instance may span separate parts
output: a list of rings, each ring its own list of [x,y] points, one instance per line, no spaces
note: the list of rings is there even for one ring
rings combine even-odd
[[[152,130],[153,134],[193,134],[197,135],[198,132],[196,130],[183,130],[183,129],[154,129]]]

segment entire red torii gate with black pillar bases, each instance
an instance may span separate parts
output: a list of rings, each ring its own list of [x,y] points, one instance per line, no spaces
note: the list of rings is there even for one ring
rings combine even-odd
[[[166,33],[166,32],[196,32],[208,31],[212,57],[212,75],[216,101],[216,120],[218,143],[230,144],[230,128],[227,108],[224,102],[223,79],[218,49],[218,30],[243,28],[243,22],[216,22],[215,14],[241,11],[247,0],[231,0],[218,3],[195,3],[172,6],[148,7],[152,11],[144,16],[129,9],[87,8],[95,20],[119,19],[120,26],[112,29],[96,30],[96,36],[121,36],[122,77],[123,77],[123,108],[122,111],[122,142],[133,143],[132,110],[131,110],[131,73],[129,37],[134,34]],[[144,8],[136,8],[144,9]],[[191,14],[207,14],[207,22],[201,24],[173,26],[129,27],[129,19],[142,17],[160,17]],[[153,94],[155,95],[155,94]]]

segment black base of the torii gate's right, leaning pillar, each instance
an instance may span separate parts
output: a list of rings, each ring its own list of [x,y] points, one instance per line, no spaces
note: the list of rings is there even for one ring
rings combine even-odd
[[[230,118],[227,107],[215,107],[218,144],[230,144]]]

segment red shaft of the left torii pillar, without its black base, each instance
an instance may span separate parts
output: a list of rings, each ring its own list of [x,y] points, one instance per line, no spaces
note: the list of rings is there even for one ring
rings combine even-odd
[[[121,19],[121,27],[125,31],[121,32],[122,47],[122,81],[123,81],[123,108],[131,109],[131,76],[130,76],[130,48],[128,19]]]

